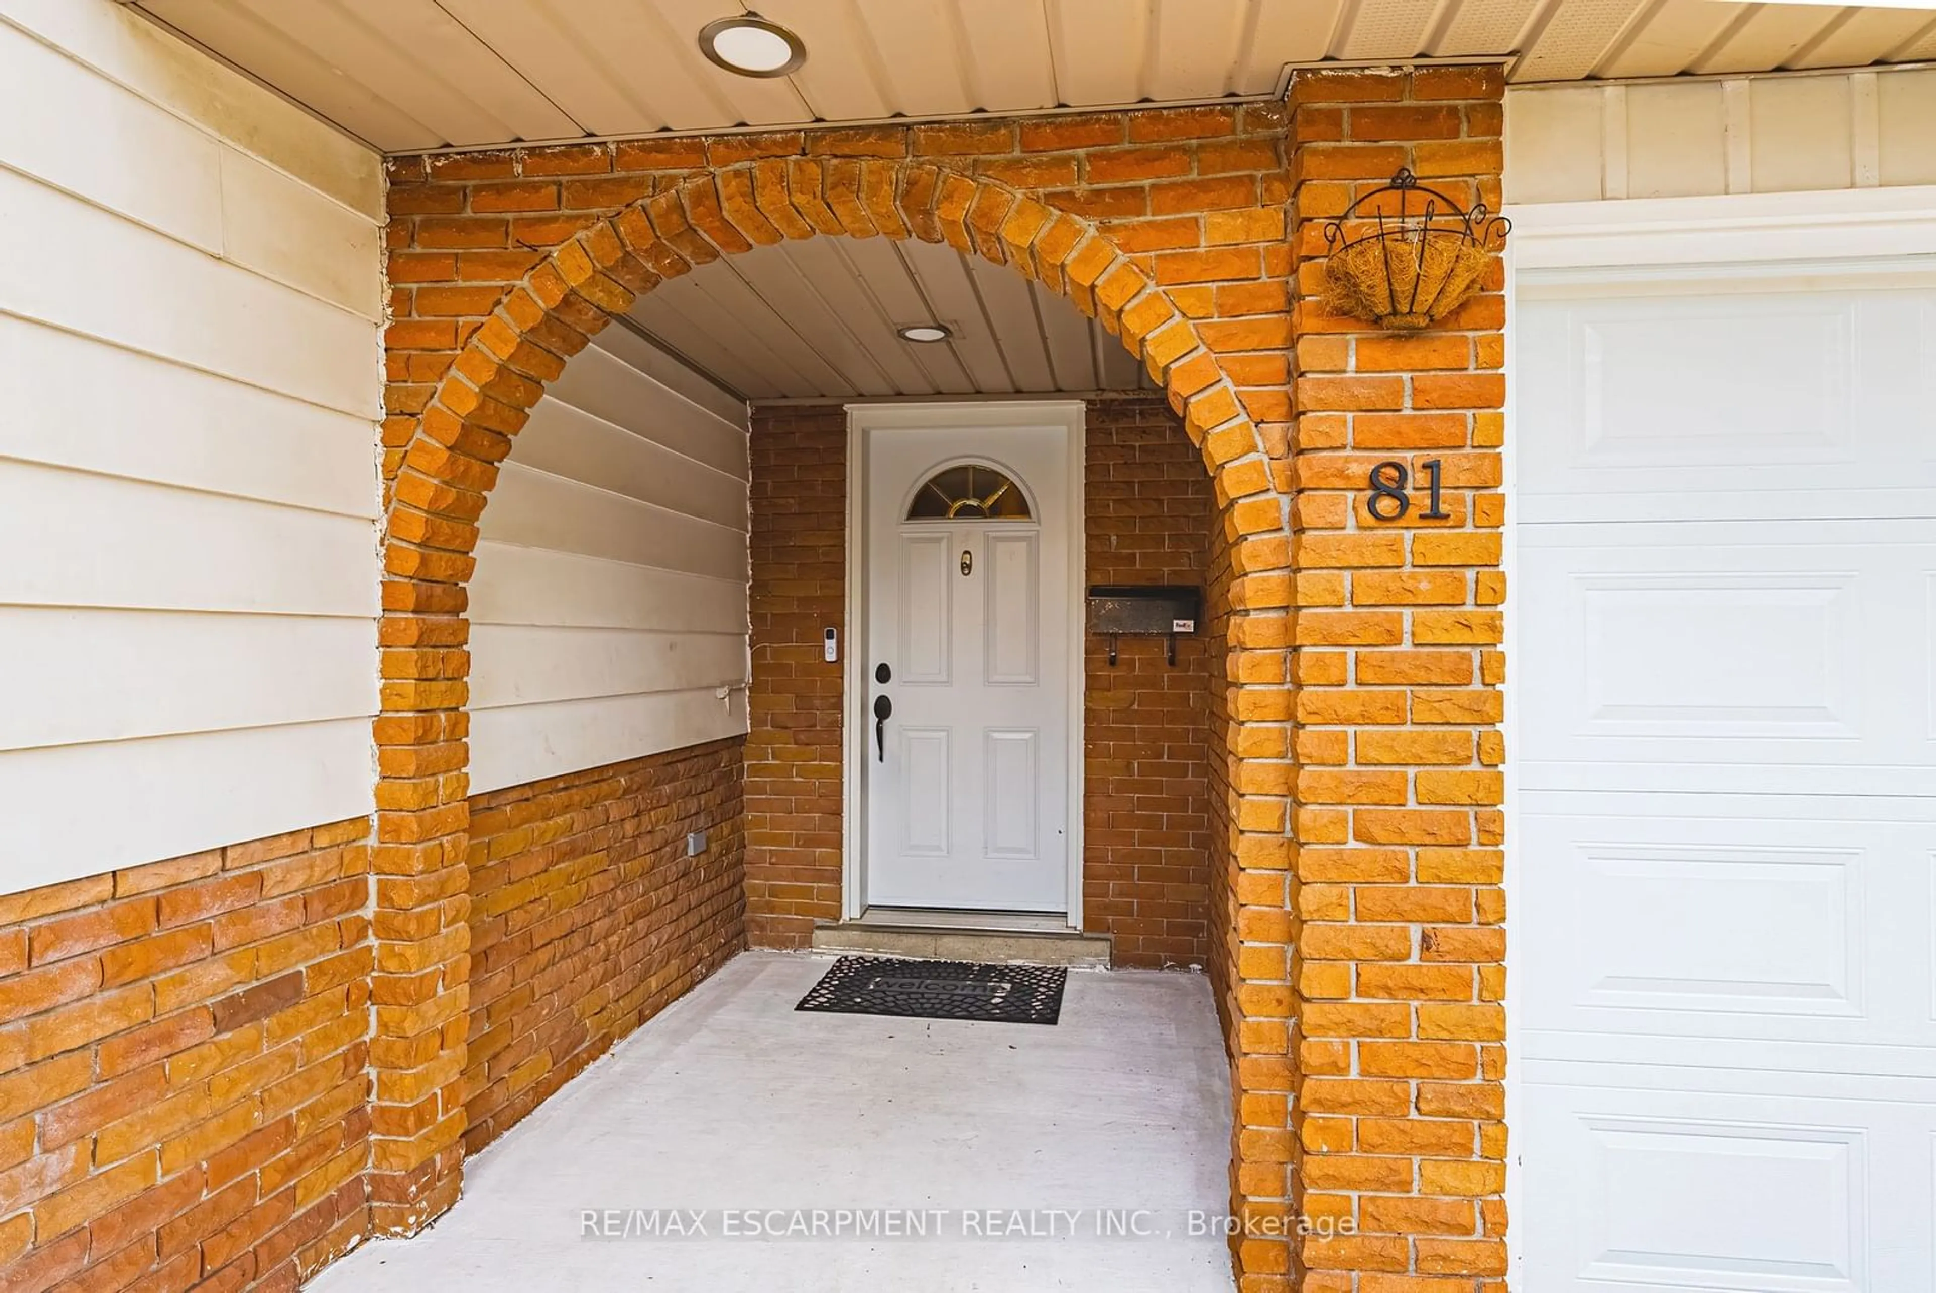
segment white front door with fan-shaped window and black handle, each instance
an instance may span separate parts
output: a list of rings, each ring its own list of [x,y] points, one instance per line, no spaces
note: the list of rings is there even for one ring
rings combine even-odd
[[[860,449],[865,902],[1067,912],[1069,428],[871,428]]]

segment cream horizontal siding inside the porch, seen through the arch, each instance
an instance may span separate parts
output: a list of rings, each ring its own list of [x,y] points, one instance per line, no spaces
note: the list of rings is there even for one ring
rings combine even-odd
[[[538,401],[470,585],[472,790],[745,732],[745,436],[621,327]]]

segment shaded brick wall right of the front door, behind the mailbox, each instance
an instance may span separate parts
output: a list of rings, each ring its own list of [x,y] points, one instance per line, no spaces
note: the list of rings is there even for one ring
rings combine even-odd
[[[1210,474],[1160,397],[1088,405],[1090,585],[1204,583]],[[1082,923],[1119,966],[1202,966],[1208,952],[1206,695],[1220,639],[1084,635]]]

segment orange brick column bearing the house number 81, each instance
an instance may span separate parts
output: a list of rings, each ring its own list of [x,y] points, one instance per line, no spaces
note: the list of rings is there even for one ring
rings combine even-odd
[[[1497,209],[1502,89],[1498,68],[1291,87],[1303,1293],[1504,1289],[1502,271],[1417,335],[1318,302],[1324,221],[1398,166]],[[1423,496],[1371,517],[1388,459],[1438,459],[1450,519]]]

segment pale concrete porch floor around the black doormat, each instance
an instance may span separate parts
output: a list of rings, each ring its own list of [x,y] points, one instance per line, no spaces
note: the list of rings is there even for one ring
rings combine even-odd
[[[1233,1287],[1224,1239],[1189,1233],[1191,1210],[1229,1198],[1229,1072],[1202,976],[1073,970],[1055,1028],[796,1012],[831,964],[738,956],[472,1159],[434,1227],[308,1287]],[[722,1210],[815,1208],[941,1216],[925,1239],[722,1235]],[[583,1233],[604,1210],[594,1225],[621,1237]],[[641,1237],[631,1210],[705,1210],[707,1237]],[[1154,1233],[1096,1237],[1104,1210]],[[987,1233],[1016,1225],[1053,1237]]]

